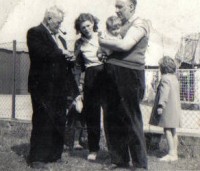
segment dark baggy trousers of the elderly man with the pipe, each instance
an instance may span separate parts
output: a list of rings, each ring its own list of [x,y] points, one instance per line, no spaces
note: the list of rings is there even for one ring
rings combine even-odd
[[[63,152],[65,97],[43,95],[36,91],[31,92],[33,116],[28,162],[55,162],[61,158]]]

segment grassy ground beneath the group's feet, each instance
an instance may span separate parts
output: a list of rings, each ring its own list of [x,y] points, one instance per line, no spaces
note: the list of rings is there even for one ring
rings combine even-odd
[[[18,121],[0,120],[0,171],[34,171],[26,164],[29,152],[31,124]],[[149,159],[149,171],[200,171],[200,157],[197,152],[200,149],[199,141],[195,139],[179,139],[179,160],[177,162],[160,162],[158,157],[164,155],[167,144],[160,136],[146,135]],[[159,139],[159,143],[158,142]],[[195,141],[196,145],[191,145]],[[159,147],[159,148],[158,148]],[[195,153],[196,151],[196,153]],[[101,150],[96,162],[86,160],[88,150],[74,150],[69,153],[63,152],[62,163],[50,163],[47,165],[49,171],[102,171],[110,163],[110,157],[105,146],[102,134]],[[116,171],[127,171],[129,169],[116,169]],[[137,170],[136,170],[137,171]],[[139,171],[139,169],[138,169]]]

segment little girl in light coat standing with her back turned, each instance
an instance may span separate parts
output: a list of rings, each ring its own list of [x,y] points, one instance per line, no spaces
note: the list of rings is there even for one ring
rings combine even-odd
[[[159,61],[161,80],[151,113],[150,124],[164,128],[169,152],[160,161],[178,160],[178,137],[176,128],[181,126],[181,103],[179,82],[174,60],[168,56]]]

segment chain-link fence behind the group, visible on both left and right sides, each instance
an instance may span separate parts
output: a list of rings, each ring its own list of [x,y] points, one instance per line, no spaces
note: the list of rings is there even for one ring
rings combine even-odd
[[[70,50],[73,50],[73,44],[73,40],[68,41]],[[1,44],[0,61],[0,118],[31,120],[32,106],[27,91],[30,61],[26,44]],[[141,104],[144,127],[147,132],[159,132],[161,128],[150,126],[148,122],[161,75],[158,68],[146,69],[145,73],[146,92]],[[179,69],[177,77],[180,82],[183,128],[192,129],[200,136],[200,69]]]

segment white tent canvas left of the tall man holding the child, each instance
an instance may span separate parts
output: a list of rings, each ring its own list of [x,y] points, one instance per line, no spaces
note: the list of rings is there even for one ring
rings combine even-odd
[[[75,38],[74,20],[80,12],[93,13],[102,21],[105,20],[105,17],[113,14],[111,9],[114,8],[114,5],[110,4],[106,0],[84,0],[81,3],[70,0],[21,0],[10,12],[7,21],[0,30],[0,43],[12,40],[25,42],[27,30],[40,24],[45,9],[53,5],[57,5],[65,12],[62,27],[67,30],[69,39],[73,39]],[[100,5],[102,8],[98,9]]]

